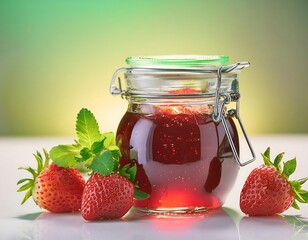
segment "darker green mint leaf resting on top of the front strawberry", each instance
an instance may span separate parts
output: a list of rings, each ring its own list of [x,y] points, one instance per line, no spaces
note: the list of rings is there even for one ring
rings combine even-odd
[[[88,166],[94,172],[108,176],[113,170],[113,157],[110,151],[103,151],[100,155],[94,157],[92,163]]]

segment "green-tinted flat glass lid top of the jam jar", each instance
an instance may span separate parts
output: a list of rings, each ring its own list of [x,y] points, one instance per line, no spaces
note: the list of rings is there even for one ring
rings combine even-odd
[[[126,58],[126,63],[132,68],[207,68],[227,65],[229,57],[224,55],[135,56]]]

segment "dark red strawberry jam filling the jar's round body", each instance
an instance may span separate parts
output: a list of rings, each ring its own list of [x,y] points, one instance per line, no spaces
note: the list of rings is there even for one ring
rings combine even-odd
[[[129,107],[117,130],[121,164],[137,164],[138,185],[150,194],[134,206],[154,212],[221,207],[239,167],[208,106],[137,105]],[[227,125],[238,150],[231,117]]]

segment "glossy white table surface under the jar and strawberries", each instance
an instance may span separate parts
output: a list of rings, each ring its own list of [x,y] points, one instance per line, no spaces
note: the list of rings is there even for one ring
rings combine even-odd
[[[28,201],[20,205],[17,181],[28,176],[18,167],[35,167],[36,150],[71,143],[63,138],[0,138],[0,240],[9,239],[308,239],[308,204],[276,217],[246,217],[239,208],[239,194],[250,171],[261,164],[260,153],[271,146],[272,154],[284,151],[285,159],[297,157],[291,179],[308,176],[308,135],[254,136],[256,162],[240,170],[224,207],[201,216],[159,217],[132,212],[122,220],[87,222],[79,213],[52,214]],[[247,155],[245,149],[242,156]],[[306,187],[308,189],[308,183]],[[31,199],[30,199],[31,200]]]

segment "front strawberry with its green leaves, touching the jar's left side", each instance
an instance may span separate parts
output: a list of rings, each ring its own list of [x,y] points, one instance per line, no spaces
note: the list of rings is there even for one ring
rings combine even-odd
[[[133,206],[133,200],[149,195],[136,182],[137,165],[120,166],[114,161],[113,169],[106,171],[108,158],[96,158],[93,173],[82,195],[81,215],[88,221],[123,217]]]

